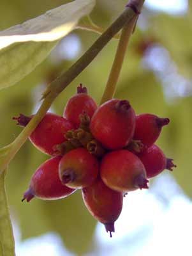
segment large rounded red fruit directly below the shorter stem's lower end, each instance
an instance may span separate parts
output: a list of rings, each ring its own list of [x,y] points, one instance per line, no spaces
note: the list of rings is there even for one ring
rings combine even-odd
[[[127,100],[108,100],[92,116],[90,129],[110,150],[126,147],[135,131],[135,111]]]

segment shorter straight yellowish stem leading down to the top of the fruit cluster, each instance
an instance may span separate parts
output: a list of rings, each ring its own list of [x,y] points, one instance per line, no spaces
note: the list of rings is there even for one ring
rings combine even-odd
[[[135,6],[135,9],[140,11],[143,3],[144,1],[133,0],[129,2],[129,6]],[[103,97],[101,99],[100,104],[103,104],[107,100],[110,100],[114,97],[115,90],[117,87],[117,82],[119,80],[119,76],[121,73],[122,63],[126,56],[126,49],[128,47],[129,38],[131,37],[133,30],[135,29],[137,19],[138,19],[138,13],[135,13],[135,16],[131,20],[129,20],[129,22],[126,22],[126,24],[122,28],[121,38],[117,46],[117,52],[115,54],[114,63],[112,65],[112,69],[108,77],[107,85],[105,87],[105,92],[103,93]]]

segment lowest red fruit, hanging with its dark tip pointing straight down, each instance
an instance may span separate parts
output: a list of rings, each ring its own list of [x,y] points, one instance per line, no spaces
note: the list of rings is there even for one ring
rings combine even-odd
[[[88,188],[82,189],[82,196],[88,211],[105,225],[112,237],[112,232],[115,232],[114,222],[122,210],[122,193],[108,188],[98,179]]]

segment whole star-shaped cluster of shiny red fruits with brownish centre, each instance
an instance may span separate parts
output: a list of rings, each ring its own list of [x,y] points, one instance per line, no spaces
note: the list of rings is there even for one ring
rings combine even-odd
[[[31,118],[13,119],[26,126]],[[168,123],[156,115],[135,115],[127,100],[112,99],[98,107],[80,84],[63,117],[47,113],[29,137],[52,158],[33,174],[23,200],[54,200],[82,189],[88,211],[111,236],[124,195],[148,188],[147,179],[175,167],[154,145]]]

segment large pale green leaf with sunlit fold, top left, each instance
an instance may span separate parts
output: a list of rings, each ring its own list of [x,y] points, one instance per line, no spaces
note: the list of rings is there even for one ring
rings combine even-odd
[[[0,32],[0,88],[11,86],[29,74],[58,40],[91,12],[95,0],[76,0]]]

